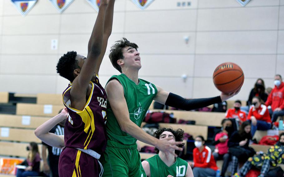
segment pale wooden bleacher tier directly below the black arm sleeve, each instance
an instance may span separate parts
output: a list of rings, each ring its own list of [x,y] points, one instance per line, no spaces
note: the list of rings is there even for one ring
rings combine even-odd
[[[180,119],[185,121],[193,120],[196,125],[206,125],[212,127],[221,127],[221,122],[225,117],[224,112],[202,112],[202,111],[180,111],[180,110],[161,110],[154,109],[153,112],[174,113],[174,117],[179,122]]]

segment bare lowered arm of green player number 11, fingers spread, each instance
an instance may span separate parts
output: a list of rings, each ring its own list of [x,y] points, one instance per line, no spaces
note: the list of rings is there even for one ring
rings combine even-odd
[[[157,147],[164,153],[174,154],[173,150],[182,151],[182,148],[176,146],[178,144],[182,144],[182,141],[169,142],[168,140],[171,138],[159,140],[144,132],[140,127],[130,120],[127,103],[124,98],[123,87],[118,80],[111,80],[105,86],[105,91],[110,102],[110,107],[122,131],[130,134],[134,138],[144,143]],[[174,155],[177,156],[176,154]]]

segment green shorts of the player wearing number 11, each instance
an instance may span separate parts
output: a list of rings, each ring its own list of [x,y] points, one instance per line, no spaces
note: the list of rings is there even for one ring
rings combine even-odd
[[[146,177],[136,144],[129,146],[108,140],[100,162],[103,177]]]

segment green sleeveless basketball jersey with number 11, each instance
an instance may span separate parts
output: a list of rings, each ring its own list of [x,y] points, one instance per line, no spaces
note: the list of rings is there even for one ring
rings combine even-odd
[[[109,81],[112,79],[117,79],[122,85],[130,120],[140,127],[149,106],[158,92],[157,88],[154,84],[143,79],[139,79],[139,84],[136,85],[125,74],[113,75]],[[121,130],[109,101],[107,101],[106,115],[105,126],[108,140],[120,142],[124,145],[135,145],[136,139]]]

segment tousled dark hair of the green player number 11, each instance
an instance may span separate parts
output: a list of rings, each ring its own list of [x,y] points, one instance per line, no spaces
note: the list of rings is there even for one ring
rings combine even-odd
[[[115,41],[116,43],[110,48],[110,61],[113,67],[117,69],[120,73],[122,73],[120,65],[117,64],[117,60],[124,59],[122,49],[124,47],[133,47],[135,50],[138,49],[138,45],[128,41],[126,38],[122,38],[122,40]]]

